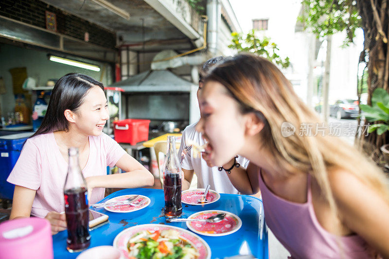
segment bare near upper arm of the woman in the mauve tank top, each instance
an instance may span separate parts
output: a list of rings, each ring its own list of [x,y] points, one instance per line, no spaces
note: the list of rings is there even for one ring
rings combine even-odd
[[[328,175],[342,224],[389,256],[389,203],[385,193],[347,170],[332,170]]]

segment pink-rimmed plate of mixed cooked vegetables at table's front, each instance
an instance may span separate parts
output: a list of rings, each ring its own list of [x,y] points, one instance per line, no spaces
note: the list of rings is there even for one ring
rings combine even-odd
[[[127,259],[210,259],[209,245],[176,226],[141,224],[120,232],[113,246]]]

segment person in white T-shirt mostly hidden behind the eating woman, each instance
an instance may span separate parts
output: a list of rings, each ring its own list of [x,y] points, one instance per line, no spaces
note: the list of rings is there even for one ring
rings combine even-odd
[[[224,59],[223,56],[218,56],[209,59],[207,62],[203,64],[202,72],[207,72],[213,65],[215,65],[217,62],[223,59]],[[201,92],[202,86],[203,86],[202,75],[200,74],[200,80],[198,82],[197,98],[199,96],[199,93]],[[197,143],[199,146],[205,144],[205,141],[202,138],[201,133],[198,133],[195,130],[196,124],[197,122],[187,126],[183,131],[182,138],[181,138],[181,145],[178,151],[179,155],[182,154],[186,146],[187,140],[192,140],[195,143]],[[196,157],[193,154],[193,149],[191,149],[184,156],[184,159],[182,160],[182,164],[181,164],[182,172],[184,173],[184,178],[182,179],[182,190],[189,189],[193,179],[193,174],[195,173],[197,176],[197,188],[206,188],[207,185],[210,184],[211,190],[215,190],[219,193],[239,194],[239,191],[236,190],[236,188],[230,182],[229,173],[231,173],[232,169],[234,169],[235,171],[244,170],[244,168],[246,168],[248,165],[248,159],[242,156],[238,156],[237,158],[231,159],[231,161],[228,163],[229,166],[223,166],[223,168],[221,168],[217,166],[212,166],[212,164],[210,164],[210,162],[206,158],[207,158],[206,155]],[[231,167],[232,162],[233,165]]]

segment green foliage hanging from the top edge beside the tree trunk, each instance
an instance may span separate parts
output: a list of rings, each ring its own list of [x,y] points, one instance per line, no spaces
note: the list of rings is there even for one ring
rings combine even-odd
[[[354,0],[302,0],[303,13],[298,18],[313,33],[319,36],[346,31],[344,42],[349,45],[355,30],[361,27],[361,17]]]

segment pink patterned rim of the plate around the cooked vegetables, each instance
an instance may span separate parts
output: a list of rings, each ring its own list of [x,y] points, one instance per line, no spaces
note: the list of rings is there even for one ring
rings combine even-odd
[[[211,248],[209,245],[199,236],[196,234],[177,227],[177,226],[171,226],[171,225],[161,225],[161,224],[142,224],[142,225],[136,225],[129,227],[127,229],[124,229],[122,232],[120,232],[116,238],[113,241],[113,246],[118,248],[123,257],[129,259],[128,256],[128,249],[127,249],[127,243],[130,238],[142,230],[147,230],[150,232],[154,231],[162,231],[165,229],[175,229],[179,232],[179,237],[181,239],[184,239],[185,241],[191,243],[198,251],[200,256],[198,259],[210,259],[211,258]]]

